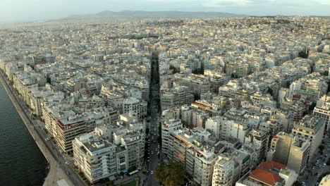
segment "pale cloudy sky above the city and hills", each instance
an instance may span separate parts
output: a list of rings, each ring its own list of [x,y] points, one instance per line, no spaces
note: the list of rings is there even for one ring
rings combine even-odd
[[[250,16],[330,16],[330,0],[1,0],[0,23],[123,10],[216,11]]]

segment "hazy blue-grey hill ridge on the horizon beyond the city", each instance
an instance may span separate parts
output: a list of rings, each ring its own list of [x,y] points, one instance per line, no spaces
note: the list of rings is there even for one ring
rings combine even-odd
[[[247,17],[233,13],[221,12],[185,12],[185,11],[102,11],[96,14],[68,16],[67,19],[85,19],[85,18],[238,18]]]

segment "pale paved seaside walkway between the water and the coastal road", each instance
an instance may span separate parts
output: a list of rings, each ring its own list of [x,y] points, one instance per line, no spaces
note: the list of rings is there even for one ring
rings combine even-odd
[[[4,89],[6,90],[8,97],[11,99],[13,106],[15,106],[16,111],[20,115],[20,118],[22,118],[25,127],[30,132],[30,135],[32,136],[33,140],[35,140],[35,143],[39,147],[40,151],[42,151],[44,158],[47,160],[48,173],[47,173],[47,177],[44,178],[43,186],[57,185],[56,181],[58,180],[66,180],[68,185],[70,186],[73,185],[71,180],[66,175],[66,172],[63,171],[63,169],[61,168],[61,165],[58,162],[56,155],[54,154],[54,152],[49,150],[50,147],[48,146],[47,142],[44,141],[42,135],[40,135],[39,132],[37,131],[36,128],[39,126],[34,125],[34,123],[32,123],[27,113],[25,113],[22,106],[18,103],[18,100],[20,100],[20,98],[17,98],[13,94],[11,87],[9,87],[11,85],[8,84],[8,79],[6,78],[2,70],[0,70],[0,81],[4,86]]]

